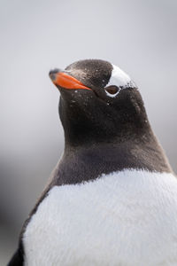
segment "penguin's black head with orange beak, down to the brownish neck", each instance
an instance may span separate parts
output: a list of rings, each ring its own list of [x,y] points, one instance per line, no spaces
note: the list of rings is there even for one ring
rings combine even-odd
[[[118,66],[100,59],[50,71],[60,91],[59,114],[66,143],[124,141],[148,126],[135,82]]]

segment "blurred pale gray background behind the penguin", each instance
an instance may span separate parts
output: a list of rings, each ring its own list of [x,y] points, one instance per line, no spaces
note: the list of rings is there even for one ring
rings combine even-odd
[[[106,59],[138,84],[177,171],[177,1],[0,1],[0,265],[64,147],[52,67]]]

